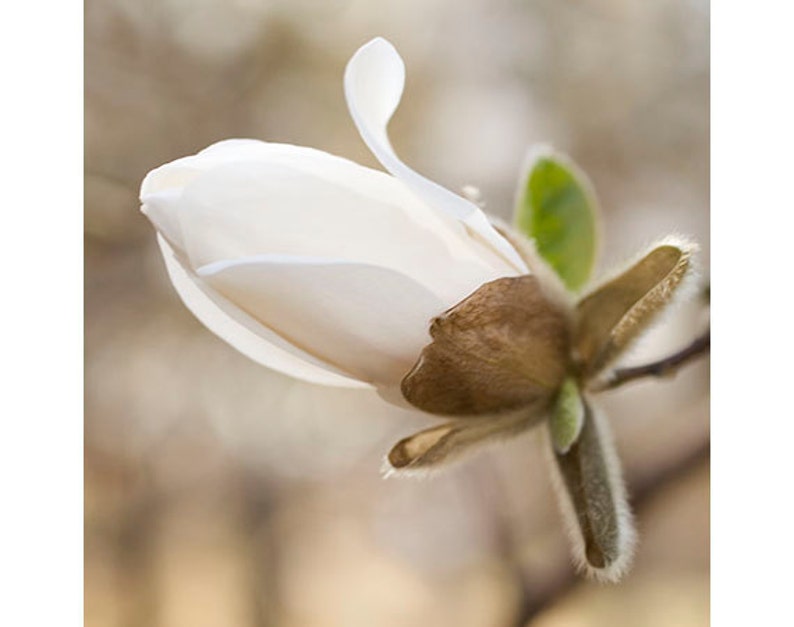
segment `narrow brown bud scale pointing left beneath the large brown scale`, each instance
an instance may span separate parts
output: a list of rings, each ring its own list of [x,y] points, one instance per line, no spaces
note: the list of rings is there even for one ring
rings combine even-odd
[[[397,471],[434,469],[480,445],[516,435],[545,415],[540,409],[528,408],[496,417],[453,420],[400,440],[389,452],[388,461]]]

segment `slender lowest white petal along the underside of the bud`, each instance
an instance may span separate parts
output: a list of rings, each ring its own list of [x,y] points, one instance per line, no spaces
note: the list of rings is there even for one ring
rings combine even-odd
[[[235,307],[185,268],[174,250],[158,237],[168,275],[188,309],[213,333],[254,361],[292,377],[337,387],[369,388],[338,368],[290,344]]]

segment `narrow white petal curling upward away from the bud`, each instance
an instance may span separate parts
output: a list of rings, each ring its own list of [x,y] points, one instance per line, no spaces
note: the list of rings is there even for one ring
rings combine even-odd
[[[527,268],[521,257],[475,204],[415,172],[394,152],[386,128],[400,103],[404,85],[405,64],[385,39],[377,37],[353,55],[345,70],[345,97],[362,139],[383,167],[417,196],[466,224],[483,243],[525,273]]]

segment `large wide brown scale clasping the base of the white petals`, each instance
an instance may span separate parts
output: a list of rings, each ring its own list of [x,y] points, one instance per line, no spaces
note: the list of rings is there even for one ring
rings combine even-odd
[[[403,378],[403,396],[448,416],[550,402],[566,374],[568,328],[534,276],[486,283],[433,320],[433,342]]]

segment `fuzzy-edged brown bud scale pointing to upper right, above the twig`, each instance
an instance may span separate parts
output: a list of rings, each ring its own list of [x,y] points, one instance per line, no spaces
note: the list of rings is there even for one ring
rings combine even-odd
[[[581,300],[576,349],[593,377],[614,362],[670,302],[692,269],[694,245],[666,242]]]

